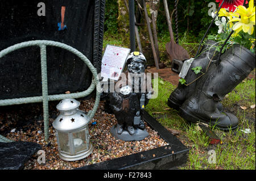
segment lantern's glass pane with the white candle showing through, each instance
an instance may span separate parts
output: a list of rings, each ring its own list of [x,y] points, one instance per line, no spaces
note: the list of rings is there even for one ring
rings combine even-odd
[[[75,153],[88,149],[84,130],[73,133],[73,145],[75,148]]]

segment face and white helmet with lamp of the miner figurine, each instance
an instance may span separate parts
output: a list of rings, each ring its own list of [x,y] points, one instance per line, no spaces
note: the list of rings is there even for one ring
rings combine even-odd
[[[130,73],[144,73],[146,69],[146,58],[141,52],[131,52],[126,62]]]

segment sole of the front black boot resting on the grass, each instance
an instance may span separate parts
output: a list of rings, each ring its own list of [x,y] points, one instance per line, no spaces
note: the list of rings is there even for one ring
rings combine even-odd
[[[209,121],[201,119],[200,117],[196,117],[193,114],[191,114],[187,111],[184,111],[183,108],[180,108],[179,113],[180,113],[181,117],[183,117],[185,120],[187,120],[189,122],[192,122],[192,123],[201,122],[201,123],[205,123],[205,124],[208,124],[210,126],[213,126],[211,123],[209,123]],[[238,127],[238,125],[236,127],[233,127],[233,128],[221,127],[221,126],[218,126],[218,125],[216,125],[216,127],[223,130],[223,131],[228,131],[229,129],[232,129],[232,130],[236,129]]]

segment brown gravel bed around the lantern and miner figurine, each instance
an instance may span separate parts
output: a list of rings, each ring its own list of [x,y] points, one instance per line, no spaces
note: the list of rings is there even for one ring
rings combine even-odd
[[[58,102],[49,102],[50,115],[58,115],[58,113],[56,113],[57,103]],[[25,106],[25,110],[28,110],[26,113],[23,113],[22,117],[17,115],[18,113],[15,113],[15,111],[0,111],[0,127],[3,127],[2,130],[0,130],[0,134],[14,141],[30,141],[38,143],[42,146],[42,150],[44,150],[46,153],[46,163],[39,164],[37,161],[39,155],[34,154],[32,155],[32,158],[29,159],[25,164],[25,170],[75,169],[77,167],[104,162],[110,159],[140,153],[145,150],[168,145],[166,141],[160,138],[158,132],[151,129],[147,123],[145,123],[145,129],[149,135],[144,138],[144,140],[117,140],[117,138],[112,136],[110,133],[110,129],[113,127],[113,125],[117,124],[117,120],[113,114],[104,112],[104,102],[100,102],[96,115],[89,123],[89,131],[91,136],[90,141],[94,147],[92,154],[79,161],[64,161],[59,157],[55,130],[52,127],[52,123],[54,121],[53,116],[50,116],[52,118],[49,119],[49,141],[46,142],[44,141],[43,132],[42,104],[31,105],[31,108],[30,106],[27,107],[26,104],[20,105],[20,107]],[[89,110],[92,110],[93,106],[94,100],[82,100],[79,109],[88,112]],[[33,111],[31,112],[31,110]],[[23,124],[20,125],[20,122],[18,124],[18,121],[13,119],[14,117],[16,120],[23,119]],[[26,124],[27,120],[29,120],[30,124]],[[10,132],[10,130],[14,128],[16,128],[16,131]]]

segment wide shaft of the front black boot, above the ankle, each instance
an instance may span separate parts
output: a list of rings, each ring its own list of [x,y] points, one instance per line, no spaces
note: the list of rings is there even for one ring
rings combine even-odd
[[[216,101],[231,92],[255,68],[255,55],[241,45],[234,45],[208,69],[196,89]]]

